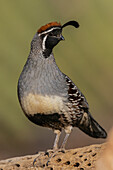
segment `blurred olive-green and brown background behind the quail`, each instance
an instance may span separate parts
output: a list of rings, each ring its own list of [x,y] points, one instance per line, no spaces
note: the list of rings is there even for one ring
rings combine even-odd
[[[17,82],[37,29],[51,21],[77,20],[54,49],[56,62],[86,96],[93,117],[107,130],[113,125],[113,1],[0,1],[0,159],[52,148],[52,130],[23,114]],[[64,133],[61,137],[63,140]],[[66,148],[102,143],[75,128]]]

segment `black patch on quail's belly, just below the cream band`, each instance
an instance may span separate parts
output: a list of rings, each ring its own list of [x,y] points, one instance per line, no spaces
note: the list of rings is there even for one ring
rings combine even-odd
[[[27,117],[30,121],[39,126],[49,127],[58,130],[61,130],[65,126],[63,115],[60,115],[58,113],[47,115],[37,113],[34,115],[27,115]]]

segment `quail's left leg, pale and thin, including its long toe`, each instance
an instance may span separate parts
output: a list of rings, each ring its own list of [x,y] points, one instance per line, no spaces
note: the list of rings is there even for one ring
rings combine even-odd
[[[55,137],[55,141],[54,141],[54,145],[53,145],[53,153],[50,156],[50,158],[48,159],[46,166],[48,166],[48,163],[50,162],[51,158],[55,156],[55,154],[58,152],[58,142],[59,142],[59,138],[61,135],[61,131],[60,130],[54,130],[54,133],[56,134]]]

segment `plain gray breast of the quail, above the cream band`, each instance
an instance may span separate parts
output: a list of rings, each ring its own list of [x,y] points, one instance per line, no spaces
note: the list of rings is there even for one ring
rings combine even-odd
[[[49,58],[29,58],[19,79],[21,97],[28,93],[66,97],[68,87],[64,74],[57,67],[53,55]]]

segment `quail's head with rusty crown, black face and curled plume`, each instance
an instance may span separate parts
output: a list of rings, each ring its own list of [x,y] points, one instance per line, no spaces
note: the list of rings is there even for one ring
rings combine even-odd
[[[43,54],[47,58],[51,52],[52,49],[61,41],[64,40],[64,37],[62,36],[62,30],[64,27],[72,25],[75,28],[79,27],[78,22],[76,21],[69,21],[65,23],[64,25],[61,25],[58,22],[51,22],[44,26],[42,26],[37,31],[37,36],[41,40],[41,48],[43,51]]]

